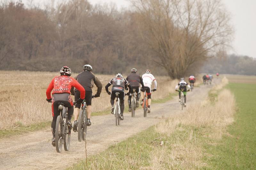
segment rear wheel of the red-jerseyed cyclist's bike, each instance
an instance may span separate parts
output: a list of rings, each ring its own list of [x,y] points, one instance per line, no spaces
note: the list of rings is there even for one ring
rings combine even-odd
[[[59,115],[56,120],[56,128],[55,128],[55,147],[57,152],[61,152],[62,149],[62,117]]]

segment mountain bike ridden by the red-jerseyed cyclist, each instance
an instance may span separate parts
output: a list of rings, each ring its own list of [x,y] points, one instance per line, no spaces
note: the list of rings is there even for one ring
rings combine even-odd
[[[60,110],[60,115],[56,120],[55,128],[55,147],[57,152],[61,152],[62,144],[64,144],[65,151],[69,150],[70,146],[70,133],[71,130],[68,130],[68,109],[64,107],[63,103],[58,103],[58,110]]]

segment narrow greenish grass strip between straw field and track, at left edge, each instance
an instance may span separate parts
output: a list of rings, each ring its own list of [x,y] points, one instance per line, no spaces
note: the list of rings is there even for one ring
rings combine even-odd
[[[13,135],[23,134],[26,132],[42,130],[46,127],[48,128],[49,126],[51,126],[51,123],[52,122],[41,122],[41,123],[29,125],[29,126],[24,126],[20,122],[17,122],[15,125],[10,127],[9,129],[0,130],[0,138],[6,138]]]

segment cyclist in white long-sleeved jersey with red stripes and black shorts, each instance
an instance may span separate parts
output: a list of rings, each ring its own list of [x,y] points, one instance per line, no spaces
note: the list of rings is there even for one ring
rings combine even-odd
[[[142,75],[142,80],[144,83],[144,89],[141,91],[145,92],[148,95],[148,113],[150,113],[150,104],[151,104],[151,84],[154,81],[154,89],[152,91],[156,91],[157,88],[157,82],[153,74],[151,74],[150,70],[146,70],[145,74]],[[144,93],[141,94],[141,105],[143,104],[144,101]]]

